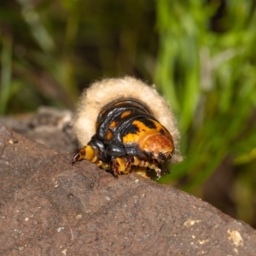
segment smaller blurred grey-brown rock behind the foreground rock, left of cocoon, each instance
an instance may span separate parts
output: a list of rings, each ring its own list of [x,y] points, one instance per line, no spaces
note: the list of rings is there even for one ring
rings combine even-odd
[[[0,116],[0,123],[61,153],[74,152],[78,148],[73,135],[72,120],[71,111],[49,107],[38,108],[38,112],[32,114]]]

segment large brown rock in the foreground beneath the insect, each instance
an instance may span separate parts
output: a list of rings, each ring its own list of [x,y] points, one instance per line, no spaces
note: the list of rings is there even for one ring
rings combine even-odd
[[[61,131],[46,141],[65,152]],[[256,255],[256,231],[206,202],[71,159],[0,125],[0,255]]]

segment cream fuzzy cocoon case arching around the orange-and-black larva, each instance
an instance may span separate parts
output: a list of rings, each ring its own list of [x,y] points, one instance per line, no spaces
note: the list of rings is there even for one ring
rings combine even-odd
[[[145,103],[171,133],[176,152],[172,162],[179,162],[183,158],[178,153],[179,131],[172,110],[166,99],[159,95],[153,86],[131,77],[120,79],[102,79],[91,84],[84,90],[79,100],[73,128],[81,146],[89,143],[90,138],[96,133],[96,119],[101,109],[119,98],[131,97]]]

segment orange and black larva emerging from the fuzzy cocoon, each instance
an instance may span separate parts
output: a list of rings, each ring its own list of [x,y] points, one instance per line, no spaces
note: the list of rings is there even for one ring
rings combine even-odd
[[[118,177],[140,168],[162,174],[162,164],[174,152],[172,135],[154,118],[151,110],[133,98],[120,99],[102,108],[96,121],[96,134],[73,155],[90,160]],[[145,175],[146,176],[146,175]]]

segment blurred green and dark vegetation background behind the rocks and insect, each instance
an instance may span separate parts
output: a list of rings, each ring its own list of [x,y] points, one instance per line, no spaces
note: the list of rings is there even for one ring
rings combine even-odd
[[[0,28],[0,114],[74,109],[105,77],[155,83],[184,155],[159,182],[256,227],[254,0],[2,1]]]

